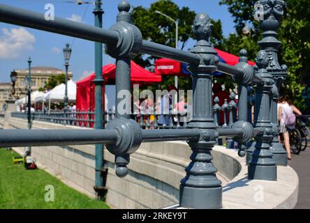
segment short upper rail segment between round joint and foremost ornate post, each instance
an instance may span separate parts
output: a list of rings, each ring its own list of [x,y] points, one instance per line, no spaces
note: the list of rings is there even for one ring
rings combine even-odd
[[[142,54],[151,54],[153,56],[168,58],[176,61],[198,65],[200,63],[200,56],[186,52],[181,49],[167,47],[158,43],[152,43],[147,40],[142,41]]]

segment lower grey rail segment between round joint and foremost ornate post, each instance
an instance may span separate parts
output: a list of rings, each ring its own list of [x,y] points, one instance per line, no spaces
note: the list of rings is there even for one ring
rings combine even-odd
[[[177,129],[177,130],[142,130],[142,141],[178,141],[178,140],[199,140],[200,130],[198,129]]]

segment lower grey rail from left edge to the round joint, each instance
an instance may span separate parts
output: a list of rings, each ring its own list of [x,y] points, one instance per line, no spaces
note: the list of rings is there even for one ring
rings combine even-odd
[[[0,130],[0,147],[115,144],[117,130]]]

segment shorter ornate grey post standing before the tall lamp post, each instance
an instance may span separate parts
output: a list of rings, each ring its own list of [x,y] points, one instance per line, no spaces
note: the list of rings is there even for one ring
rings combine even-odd
[[[255,135],[256,146],[248,166],[249,179],[276,180],[276,162],[272,159],[273,129],[270,122],[270,92],[274,79],[266,70],[270,58],[264,50],[258,52],[256,65],[259,70],[256,77],[263,82],[256,85],[255,120],[253,127],[258,130]]]

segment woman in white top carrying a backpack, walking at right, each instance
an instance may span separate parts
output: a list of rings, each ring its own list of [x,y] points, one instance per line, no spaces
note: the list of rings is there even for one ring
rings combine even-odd
[[[283,134],[284,144],[286,146],[286,152],[288,153],[288,160],[290,157],[290,137],[288,134],[288,129],[295,128],[296,116],[301,116],[302,112],[298,110],[290,100],[288,95],[281,96],[279,100],[279,123],[280,123],[280,133]]]

